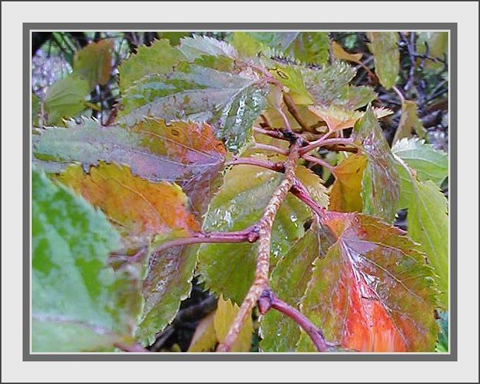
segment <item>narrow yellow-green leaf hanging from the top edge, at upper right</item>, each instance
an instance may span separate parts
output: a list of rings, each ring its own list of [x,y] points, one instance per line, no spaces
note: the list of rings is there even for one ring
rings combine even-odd
[[[368,45],[375,61],[375,73],[380,83],[392,88],[400,70],[400,52],[397,47],[397,32],[367,32],[371,44]]]

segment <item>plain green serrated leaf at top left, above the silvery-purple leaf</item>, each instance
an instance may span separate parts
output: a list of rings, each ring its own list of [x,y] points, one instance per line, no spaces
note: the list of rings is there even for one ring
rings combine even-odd
[[[150,47],[138,47],[137,53],[119,67],[120,92],[124,93],[143,76],[169,73],[174,66],[185,60],[185,55],[179,49],[172,48],[167,39],[157,40]]]

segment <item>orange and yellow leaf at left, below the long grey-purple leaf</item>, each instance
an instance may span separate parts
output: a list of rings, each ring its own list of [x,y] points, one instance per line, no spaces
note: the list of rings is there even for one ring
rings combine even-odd
[[[156,236],[172,232],[187,235],[200,229],[179,186],[133,176],[126,166],[100,162],[85,174],[80,165],[72,165],[58,180],[100,208],[124,235],[127,246],[149,244]]]

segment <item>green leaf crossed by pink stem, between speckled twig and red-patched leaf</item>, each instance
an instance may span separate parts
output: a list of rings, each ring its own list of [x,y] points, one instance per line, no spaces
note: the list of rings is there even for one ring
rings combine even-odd
[[[316,229],[308,229],[280,259],[272,271],[270,287],[278,297],[298,308],[310,281],[313,261],[318,258]],[[268,311],[261,320],[260,349],[263,352],[295,352],[301,332],[299,325],[277,311]]]

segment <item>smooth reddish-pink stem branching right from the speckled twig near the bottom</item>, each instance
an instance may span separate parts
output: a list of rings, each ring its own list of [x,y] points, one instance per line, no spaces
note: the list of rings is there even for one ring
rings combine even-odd
[[[328,352],[328,347],[330,347],[330,345],[325,341],[322,331],[296,308],[285,303],[285,301],[278,299],[270,289],[265,289],[258,300],[258,309],[263,315],[270,308],[273,308],[294,320],[294,322],[297,323],[311,338],[318,352]]]

